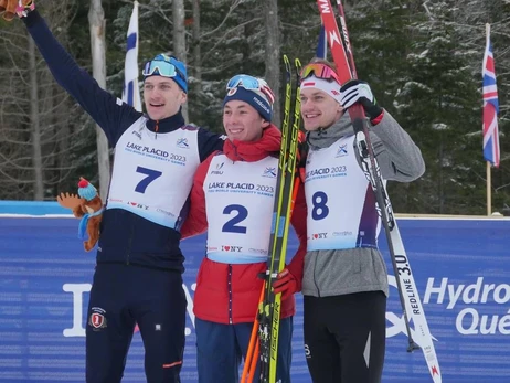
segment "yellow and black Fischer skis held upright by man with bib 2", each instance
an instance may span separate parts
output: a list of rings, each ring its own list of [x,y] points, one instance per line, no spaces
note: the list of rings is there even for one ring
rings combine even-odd
[[[295,104],[293,124],[290,124],[293,71],[286,55],[284,55],[284,63],[286,72],[285,109],[275,189],[276,195],[273,209],[269,256],[267,257],[267,268],[264,276],[258,310],[252,330],[243,375],[241,377],[242,383],[251,383],[253,381],[262,383],[276,382],[281,294],[275,295],[272,285],[273,281],[276,280],[278,273],[285,268],[290,216],[300,182],[299,178],[296,177],[296,163],[300,136],[299,83],[301,63],[298,58],[295,60],[296,86],[294,91]],[[254,376],[257,362],[261,366],[258,377]]]

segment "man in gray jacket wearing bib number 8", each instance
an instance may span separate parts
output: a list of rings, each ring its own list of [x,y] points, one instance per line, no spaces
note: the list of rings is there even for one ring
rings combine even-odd
[[[315,60],[301,72],[301,115],[309,152],[305,170],[308,248],[305,257],[305,351],[318,383],[381,381],[387,272],[378,248],[381,220],[361,168],[346,109],[363,105],[384,182],[425,171],[422,153],[375,104],[370,86],[340,86],[334,67]]]

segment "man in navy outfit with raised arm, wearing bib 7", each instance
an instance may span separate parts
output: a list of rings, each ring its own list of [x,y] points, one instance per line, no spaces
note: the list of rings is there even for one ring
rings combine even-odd
[[[86,381],[120,382],[135,325],[150,383],[180,382],[184,348],[184,257],[180,227],[193,174],[223,141],[187,126],[183,63],[163,54],[144,67],[147,115],[102,89],[35,10],[20,14],[55,79],[115,147],[86,327]]]

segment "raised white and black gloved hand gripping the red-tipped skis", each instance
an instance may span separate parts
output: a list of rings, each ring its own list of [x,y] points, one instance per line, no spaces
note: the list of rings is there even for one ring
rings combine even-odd
[[[363,81],[351,79],[340,88],[340,104],[343,109],[350,108],[355,103],[363,106],[365,115],[372,120],[378,118],[383,109],[378,106],[370,85]]]

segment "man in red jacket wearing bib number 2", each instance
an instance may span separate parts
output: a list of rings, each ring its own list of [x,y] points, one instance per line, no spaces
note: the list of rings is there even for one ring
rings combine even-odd
[[[246,357],[269,248],[280,131],[270,124],[274,94],[266,82],[234,76],[223,103],[223,151],[198,169],[183,237],[208,230],[194,295],[200,383],[236,383]],[[290,381],[294,294],[306,251],[306,202],[300,188],[291,224],[300,246],[279,274],[281,292],[277,381]],[[209,228],[208,228],[209,227]],[[257,372],[255,373],[255,376]]]

